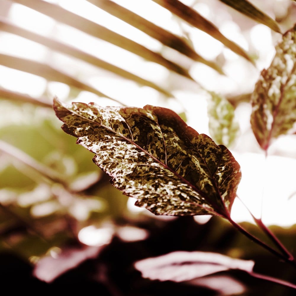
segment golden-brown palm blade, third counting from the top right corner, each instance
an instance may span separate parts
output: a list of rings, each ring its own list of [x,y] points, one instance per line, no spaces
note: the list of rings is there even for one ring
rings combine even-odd
[[[87,0],[90,3],[96,5],[97,7],[103,9],[104,11],[110,13],[111,15],[127,22],[128,24],[132,25],[133,27],[141,30],[142,32],[146,33],[147,35],[151,36],[152,38],[157,39],[164,45],[177,50],[178,52],[186,55],[187,57],[201,62],[214,70],[218,73],[223,74],[221,67],[219,67],[216,63],[208,61],[197,54],[191,46],[189,46],[182,38],[179,36],[170,33],[169,31],[163,29],[160,26],[149,22],[148,20],[140,17],[134,12],[116,4],[110,0]]]

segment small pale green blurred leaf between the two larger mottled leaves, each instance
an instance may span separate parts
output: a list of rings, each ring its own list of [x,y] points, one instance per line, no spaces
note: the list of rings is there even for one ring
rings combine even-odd
[[[234,107],[222,96],[211,92],[207,113],[213,140],[217,144],[230,146],[239,134],[239,125],[234,119]]]

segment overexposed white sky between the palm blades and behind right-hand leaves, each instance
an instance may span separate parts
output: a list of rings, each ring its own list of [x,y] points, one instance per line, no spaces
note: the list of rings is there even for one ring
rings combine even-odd
[[[240,24],[233,20],[231,11],[227,9],[217,10],[218,5],[215,6],[216,10],[211,9],[210,5],[217,4],[217,1],[199,1],[194,5],[194,8],[214,22],[228,38],[237,42],[244,49],[256,53],[258,55],[257,68],[200,30],[191,28],[186,24],[180,26],[176,21],[176,17],[173,17],[170,12],[150,0],[113,1],[172,33],[182,36],[182,30],[186,31],[192,40],[194,49],[203,57],[210,60],[214,60],[218,56],[223,57],[226,60],[223,67],[226,76],[219,75],[211,68],[200,63],[191,61],[191,64],[189,64],[189,61],[184,57],[174,56],[178,61],[184,59],[185,64],[190,66],[192,77],[207,90],[221,94],[251,92],[260,70],[263,67],[268,67],[274,56],[274,43],[279,38],[279,34],[272,33],[268,27],[255,22],[252,22],[250,28],[242,30],[239,27]],[[52,0],[48,2],[59,4],[67,10],[104,25],[153,51],[170,54],[167,49],[163,49],[160,42],[112,17],[87,1]],[[194,1],[190,0],[183,0],[183,2],[188,5],[194,3]],[[253,1],[253,3],[255,2]],[[278,0],[275,2],[284,6],[287,1]],[[270,13],[271,17],[274,17],[271,10],[266,12]],[[134,82],[124,80],[63,54],[52,52],[42,45],[9,33],[0,32],[0,53],[47,62],[52,67],[89,83],[103,93],[119,99],[127,105],[143,107],[145,104],[152,104],[168,107],[176,112],[185,111],[189,126],[195,128],[199,133],[209,134],[205,92],[200,91],[193,83],[188,83],[185,78],[170,73],[164,67],[147,62],[117,46],[100,41],[66,25],[56,23],[51,18],[20,4],[12,4],[8,17],[12,22],[23,28],[71,44],[142,78],[153,81],[172,91],[176,99],[168,100],[154,89],[139,86]],[[0,66],[0,78],[0,86],[33,97],[41,96],[47,92],[49,97],[57,95],[60,99],[66,100],[70,91],[65,84],[56,82],[47,84],[44,78],[3,66]],[[75,100],[83,102],[95,101],[101,105],[114,104],[108,99],[99,98],[86,91],[81,92]],[[269,156],[265,160],[263,152],[258,148],[259,146],[250,130],[249,104],[245,103],[239,106],[236,113],[242,136],[238,139],[236,146],[231,149],[231,152],[233,152],[234,157],[242,167],[243,177],[237,192],[239,197],[259,217],[261,198],[263,196],[263,221],[267,225],[289,226],[296,223],[296,196],[288,200],[288,197],[296,191],[295,136],[280,137],[271,146]],[[130,207],[130,209],[133,210],[133,207]],[[234,202],[232,217],[237,222],[252,221],[247,210],[238,200]]]

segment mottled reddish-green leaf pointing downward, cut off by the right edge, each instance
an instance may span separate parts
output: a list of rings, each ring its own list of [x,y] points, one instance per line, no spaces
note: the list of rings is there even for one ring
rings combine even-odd
[[[252,94],[251,125],[261,148],[273,138],[295,133],[296,26],[276,46],[270,67],[263,69]]]

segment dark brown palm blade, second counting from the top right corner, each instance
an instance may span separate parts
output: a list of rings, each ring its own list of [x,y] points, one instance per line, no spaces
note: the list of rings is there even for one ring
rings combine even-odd
[[[227,46],[236,54],[244,57],[248,61],[252,62],[252,59],[249,57],[247,52],[242,49],[239,45],[235,42],[226,38],[218,28],[213,25],[210,21],[202,17],[196,10],[192,9],[189,6],[186,6],[182,2],[178,0],[152,0],[155,3],[161,5],[162,7],[168,9],[173,14],[177,15],[181,19],[188,22],[190,25],[194,26],[197,29],[204,31],[205,33],[209,34],[213,38],[220,41],[222,44]]]

